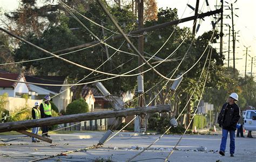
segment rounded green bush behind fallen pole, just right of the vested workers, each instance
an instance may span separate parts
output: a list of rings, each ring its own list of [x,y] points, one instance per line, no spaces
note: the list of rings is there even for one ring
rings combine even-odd
[[[85,113],[89,111],[89,106],[83,98],[74,100],[66,107],[66,114]]]

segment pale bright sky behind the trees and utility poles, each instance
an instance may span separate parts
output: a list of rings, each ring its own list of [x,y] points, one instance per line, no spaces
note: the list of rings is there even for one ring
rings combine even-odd
[[[38,2],[44,0],[38,0]],[[190,9],[187,4],[190,4],[195,8],[196,1],[195,0],[156,0],[158,8],[177,8],[178,9],[178,16],[179,18],[190,17],[194,15],[194,11]],[[3,11],[13,11],[18,7],[18,0],[0,0],[0,8]],[[201,12],[207,12],[210,10],[215,10],[215,5],[220,5],[220,0],[208,0],[209,6],[206,5],[206,0],[199,1],[199,10]],[[248,48],[248,55],[251,57],[255,57],[254,63],[256,65],[256,10],[254,9],[256,6],[256,0],[226,0],[224,1],[224,15],[230,15],[231,17],[231,10],[228,9],[228,6],[231,7],[231,3],[233,3],[233,8],[239,8],[234,10],[234,31],[238,32],[237,40],[235,43],[235,68],[237,68],[241,75],[245,74],[245,46]],[[228,9],[228,10],[225,10]],[[211,21],[213,17],[206,17],[204,18],[205,21],[198,21],[200,23],[200,28],[196,36],[203,34],[206,31],[212,30]],[[230,18],[226,18],[224,16],[224,24],[229,24],[232,26],[232,21]],[[181,23],[179,24],[180,27],[186,26],[191,28],[192,30],[193,21]],[[228,51],[228,27],[224,25],[224,44],[223,44],[223,52],[225,54],[225,66],[227,66],[227,51]],[[231,32],[232,33],[232,32]],[[232,39],[232,36],[231,36]],[[215,48],[219,48],[219,43],[214,45]],[[232,52],[232,42],[231,42],[231,52],[230,57],[233,58]],[[226,52],[225,52],[226,51]],[[247,57],[247,75],[251,75],[251,57]],[[256,76],[256,69],[255,65],[253,65],[253,76]],[[230,60],[230,66],[233,66],[233,60]]]

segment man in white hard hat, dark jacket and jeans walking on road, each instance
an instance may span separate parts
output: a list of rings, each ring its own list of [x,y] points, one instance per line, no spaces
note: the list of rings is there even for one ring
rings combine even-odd
[[[219,126],[222,127],[222,138],[220,144],[219,153],[225,156],[227,134],[230,132],[230,156],[234,157],[235,150],[235,130],[237,129],[237,123],[240,119],[240,108],[235,103],[238,100],[237,93],[231,93],[228,98],[228,103],[225,103],[218,117]]]

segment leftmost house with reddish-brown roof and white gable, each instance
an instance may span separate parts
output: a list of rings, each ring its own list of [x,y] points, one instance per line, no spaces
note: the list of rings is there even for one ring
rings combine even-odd
[[[0,77],[26,82],[24,75],[21,73],[0,73]],[[22,95],[27,94],[31,99],[35,99],[37,95],[28,84],[0,79],[0,95],[4,93],[8,93],[9,97],[22,97]]]

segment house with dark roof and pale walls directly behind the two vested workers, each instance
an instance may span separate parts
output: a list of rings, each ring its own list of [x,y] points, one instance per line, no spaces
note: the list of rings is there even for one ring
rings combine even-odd
[[[25,76],[28,82],[41,84],[68,84],[68,78],[64,76]],[[66,106],[71,103],[72,91],[70,86],[48,86],[29,84],[32,91],[38,93],[36,99],[43,99],[46,95],[51,96],[52,102],[61,110],[66,111]]]

